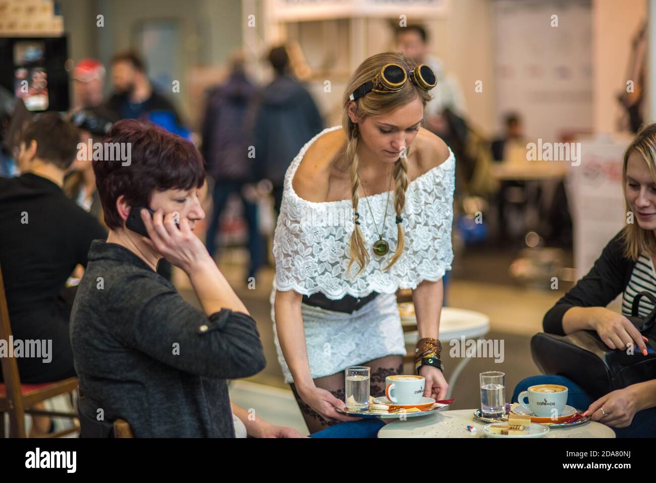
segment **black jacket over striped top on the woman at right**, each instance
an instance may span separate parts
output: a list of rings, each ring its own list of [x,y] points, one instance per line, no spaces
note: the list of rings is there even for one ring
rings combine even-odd
[[[623,293],[636,262],[622,255],[621,234],[620,231],[608,242],[590,272],[546,312],[543,320],[545,332],[565,335],[563,316],[569,308],[605,307]]]

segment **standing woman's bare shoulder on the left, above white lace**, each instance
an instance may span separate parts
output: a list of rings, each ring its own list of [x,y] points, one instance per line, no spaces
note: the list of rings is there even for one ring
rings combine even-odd
[[[292,179],[292,188],[299,198],[323,203],[328,197],[333,165],[344,139],[341,129],[325,133],[303,155]]]

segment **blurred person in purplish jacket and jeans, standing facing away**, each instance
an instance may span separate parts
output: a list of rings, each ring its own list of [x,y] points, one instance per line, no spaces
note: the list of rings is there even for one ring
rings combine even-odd
[[[228,196],[239,194],[249,231],[251,264],[248,280],[262,266],[264,249],[258,230],[258,207],[246,191],[249,182],[254,180],[254,161],[248,156],[251,133],[247,131],[246,124],[256,87],[246,77],[244,62],[242,53],[233,54],[228,79],[207,96],[207,108],[201,125],[201,154],[205,159],[207,174],[215,182],[212,215],[207,229],[207,251],[211,257],[215,257],[216,232],[221,213],[226,207]]]

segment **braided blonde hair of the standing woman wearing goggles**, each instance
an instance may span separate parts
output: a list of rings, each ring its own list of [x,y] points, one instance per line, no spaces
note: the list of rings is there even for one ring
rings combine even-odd
[[[351,78],[346,84],[346,91],[344,91],[344,96],[342,98],[342,129],[346,131],[346,163],[348,165],[349,174],[351,177],[351,201],[353,204],[354,211],[358,211],[359,195],[358,189],[360,186],[360,179],[358,175],[358,154],[356,150],[358,148],[359,142],[359,133],[356,137],[352,136],[352,131],[355,124],[352,123],[350,117],[348,116],[348,103],[350,94],[358,89],[360,85],[367,81],[371,81],[376,74],[380,72],[380,69],[385,64],[394,62],[400,64],[406,72],[411,68],[417,66],[415,62],[412,62],[409,58],[401,53],[386,52],[381,54],[375,54],[366,60],[364,60],[356,69],[356,71],[351,75]],[[355,112],[356,116],[359,119],[365,119],[369,116],[383,116],[384,114],[389,114],[393,110],[405,106],[408,102],[415,100],[417,97],[420,98],[424,107],[426,103],[431,99],[431,95],[428,91],[417,87],[409,78],[403,88],[396,92],[388,93],[375,93],[370,92],[367,95],[362,96],[356,100]],[[407,158],[400,156],[399,159],[394,163],[394,168],[392,173],[394,175],[394,209],[398,217],[401,216],[401,211],[403,211],[403,206],[405,205],[405,190],[408,186],[408,165]],[[384,221],[383,221],[384,222]],[[405,249],[405,235],[403,234],[403,226],[401,223],[396,224],[398,228],[398,242],[396,243],[396,251],[390,260],[390,263],[383,268],[383,270],[388,270],[392,265],[398,261],[398,259],[403,254],[403,249]],[[360,231],[359,225],[354,224],[353,234],[351,235],[350,240],[350,261],[348,263],[348,268],[346,272],[350,276],[351,265],[354,262],[358,262],[359,270],[356,272],[354,277],[358,276],[362,270],[365,269],[365,266],[369,263],[369,251],[365,247],[364,237]],[[384,229],[384,225],[383,225]]]

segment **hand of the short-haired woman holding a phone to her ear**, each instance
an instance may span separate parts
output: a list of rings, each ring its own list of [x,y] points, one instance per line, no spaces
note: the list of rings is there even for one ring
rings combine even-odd
[[[169,262],[190,274],[200,263],[211,258],[203,242],[192,232],[188,219],[182,217],[178,229],[174,223],[175,213],[164,216],[163,210],[158,209],[151,217],[146,209],[142,209],[141,217],[150,236],[150,240],[146,237],[143,240]]]

